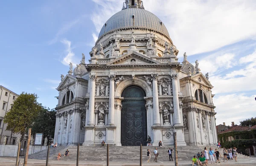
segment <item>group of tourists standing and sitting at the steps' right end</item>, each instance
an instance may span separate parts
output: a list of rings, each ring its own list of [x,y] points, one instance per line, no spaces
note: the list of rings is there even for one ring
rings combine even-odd
[[[219,147],[219,146],[218,146]],[[233,160],[233,158],[235,158],[235,161],[237,161],[237,156],[238,153],[236,152],[236,147],[230,148],[230,149],[225,149],[223,148],[223,162],[226,160],[229,160],[229,158],[231,160]],[[211,163],[221,163],[220,159],[221,158],[221,154],[218,151],[218,149],[215,149],[215,151],[212,150],[212,148],[209,149],[209,155],[210,155],[210,159],[211,159]],[[209,160],[209,155],[208,155],[208,151],[207,151],[207,147],[204,148],[204,151],[201,152],[201,154],[198,152],[198,154],[196,156],[194,156],[192,158],[192,166],[207,166],[208,164],[208,160]],[[215,162],[215,157],[216,155],[216,162]]]

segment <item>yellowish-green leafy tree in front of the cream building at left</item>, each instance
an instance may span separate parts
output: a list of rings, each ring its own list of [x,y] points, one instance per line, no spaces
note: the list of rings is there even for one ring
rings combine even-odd
[[[7,124],[6,129],[21,135],[24,135],[29,127],[32,127],[39,110],[42,109],[41,104],[37,102],[36,94],[22,92],[12,104],[12,109],[6,113],[4,123]]]

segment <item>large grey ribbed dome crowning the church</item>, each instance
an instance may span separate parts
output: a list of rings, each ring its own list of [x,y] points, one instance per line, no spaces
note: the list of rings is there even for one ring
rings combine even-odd
[[[170,37],[162,21],[153,13],[142,8],[127,8],[114,14],[105,25],[103,25],[99,37],[114,29],[126,27],[149,28]]]

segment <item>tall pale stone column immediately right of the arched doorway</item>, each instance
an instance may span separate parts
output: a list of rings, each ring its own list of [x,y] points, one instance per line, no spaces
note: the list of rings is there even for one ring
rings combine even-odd
[[[160,114],[159,114],[159,102],[158,102],[158,90],[157,90],[157,74],[152,74],[153,79],[153,107],[154,107],[154,125],[160,126]]]

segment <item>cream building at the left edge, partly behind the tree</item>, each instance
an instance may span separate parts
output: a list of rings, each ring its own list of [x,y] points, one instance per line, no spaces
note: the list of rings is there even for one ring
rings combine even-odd
[[[12,134],[6,130],[7,124],[3,123],[4,116],[12,109],[12,104],[18,96],[6,87],[0,86],[0,144],[3,144],[5,136],[7,138],[6,144],[11,145],[15,144],[16,138],[20,138],[20,135]]]

